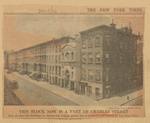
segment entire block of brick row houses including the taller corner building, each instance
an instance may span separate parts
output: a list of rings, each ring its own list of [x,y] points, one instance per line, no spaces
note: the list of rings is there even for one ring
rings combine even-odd
[[[101,25],[9,54],[12,69],[99,100],[136,85],[137,40],[129,27]]]

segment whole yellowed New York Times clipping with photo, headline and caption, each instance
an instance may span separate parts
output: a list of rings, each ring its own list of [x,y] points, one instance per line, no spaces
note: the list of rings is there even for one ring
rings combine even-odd
[[[4,5],[3,118],[145,117],[142,7]]]

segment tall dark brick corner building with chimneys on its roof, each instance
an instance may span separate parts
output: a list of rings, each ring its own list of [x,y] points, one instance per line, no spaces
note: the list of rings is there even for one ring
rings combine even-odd
[[[134,85],[138,36],[130,27],[101,25],[80,32],[82,77],[80,91],[95,99],[109,97]]]

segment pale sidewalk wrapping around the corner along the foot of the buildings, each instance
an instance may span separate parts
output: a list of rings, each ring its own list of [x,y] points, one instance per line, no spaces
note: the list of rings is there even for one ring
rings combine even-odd
[[[85,95],[78,95],[74,93],[74,91],[69,91],[67,89],[61,88],[57,85],[51,85],[47,82],[37,82],[36,80],[30,79],[27,75],[20,75],[18,73],[13,73],[16,76],[28,80],[29,82],[32,82],[44,89],[47,89],[48,91],[61,96],[63,98],[66,98],[67,100],[70,100],[76,104],[79,104],[80,106],[120,106],[130,100],[136,99],[143,95],[143,89],[133,92],[131,94],[122,96],[122,97],[112,97],[109,99],[102,99],[99,101],[95,101],[89,97],[86,97]],[[129,96],[129,100],[127,100],[127,96]]]

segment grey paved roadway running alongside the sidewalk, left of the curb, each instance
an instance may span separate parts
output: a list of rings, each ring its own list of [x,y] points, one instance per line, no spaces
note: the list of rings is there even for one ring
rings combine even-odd
[[[23,78],[18,78],[19,89],[13,90],[24,105],[77,105]]]

